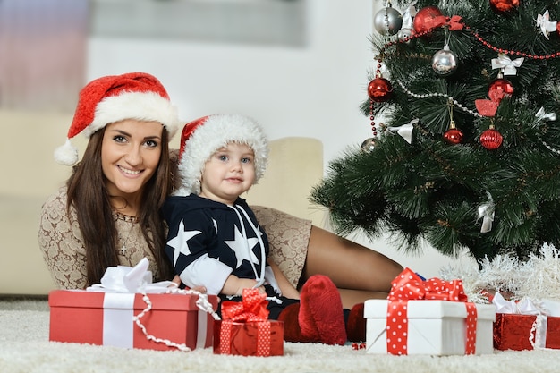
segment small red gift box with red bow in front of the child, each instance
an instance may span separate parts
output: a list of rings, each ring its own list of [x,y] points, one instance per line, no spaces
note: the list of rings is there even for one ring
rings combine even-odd
[[[214,353],[242,356],[284,355],[284,322],[269,320],[267,295],[243,289],[242,301],[223,301],[214,325]]]

